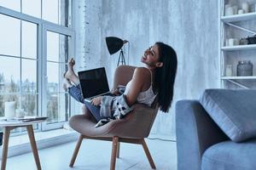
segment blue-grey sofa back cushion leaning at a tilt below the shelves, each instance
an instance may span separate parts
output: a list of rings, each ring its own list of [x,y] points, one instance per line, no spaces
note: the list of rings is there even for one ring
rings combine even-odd
[[[233,141],[256,137],[256,90],[207,89],[200,102]]]

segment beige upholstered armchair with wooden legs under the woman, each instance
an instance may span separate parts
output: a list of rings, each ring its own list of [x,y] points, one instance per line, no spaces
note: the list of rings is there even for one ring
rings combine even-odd
[[[126,85],[131,80],[135,68],[127,65],[119,66],[115,71],[113,89],[118,85]],[[156,101],[154,101],[151,108],[147,105],[136,104],[134,105],[134,110],[124,119],[113,120],[102,127],[95,127],[96,122],[90,116],[90,111],[84,107],[83,115],[72,116],[69,121],[70,126],[81,134],[69,167],[73,167],[83,139],[100,139],[113,141],[110,161],[111,170],[115,169],[116,157],[119,158],[120,142],[142,144],[150,166],[155,169],[154,161],[150,156],[144,138],[148,137],[158,108]]]

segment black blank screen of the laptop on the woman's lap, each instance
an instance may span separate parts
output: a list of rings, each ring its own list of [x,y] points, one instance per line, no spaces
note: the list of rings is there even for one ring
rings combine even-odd
[[[109,92],[105,68],[79,71],[80,87],[84,99]]]

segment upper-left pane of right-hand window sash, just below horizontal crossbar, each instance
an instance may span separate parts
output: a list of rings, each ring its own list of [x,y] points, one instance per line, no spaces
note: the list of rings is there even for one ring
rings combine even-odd
[[[59,34],[47,31],[47,60],[59,62]]]

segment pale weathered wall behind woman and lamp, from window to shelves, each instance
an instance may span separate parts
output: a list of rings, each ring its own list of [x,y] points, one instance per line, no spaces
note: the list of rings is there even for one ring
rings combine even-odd
[[[177,79],[172,110],[160,113],[152,133],[175,133],[175,102],[198,99],[205,88],[218,88],[218,1],[216,0],[84,0],[84,23],[78,23],[85,53],[80,68],[105,66],[109,84],[119,54],[108,54],[105,37],[130,42],[129,65],[142,65],[145,48],[154,42],[170,44],[177,51]],[[83,10],[83,9],[82,9]],[[125,48],[127,57],[128,48]],[[126,61],[128,58],[126,58]]]

